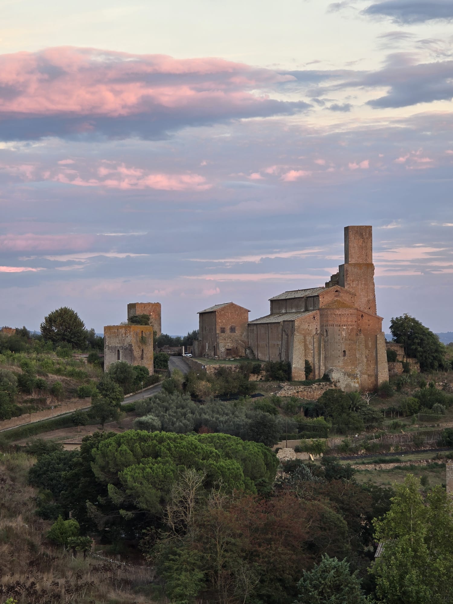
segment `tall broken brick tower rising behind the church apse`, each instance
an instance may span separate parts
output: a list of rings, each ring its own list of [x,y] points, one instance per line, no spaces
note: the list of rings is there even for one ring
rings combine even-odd
[[[344,264],[338,267],[338,273],[338,284],[355,292],[356,307],[377,315],[371,226],[344,227]]]

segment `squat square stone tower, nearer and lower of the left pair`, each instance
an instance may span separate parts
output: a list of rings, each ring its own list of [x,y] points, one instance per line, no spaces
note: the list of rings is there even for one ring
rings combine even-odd
[[[147,313],[146,313],[147,314]],[[112,363],[126,361],[143,365],[154,373],[153,325],[108,325],[104,327],[104,371]]]

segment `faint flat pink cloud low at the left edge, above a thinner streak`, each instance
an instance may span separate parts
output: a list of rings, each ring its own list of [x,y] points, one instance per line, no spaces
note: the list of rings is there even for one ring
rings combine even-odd
[[[82,251],[88,249],[94,242],[92,235],[35,235],[27,233],[23,235],[0,235],[0,251],[9,252],[31,252],[69,250]]]

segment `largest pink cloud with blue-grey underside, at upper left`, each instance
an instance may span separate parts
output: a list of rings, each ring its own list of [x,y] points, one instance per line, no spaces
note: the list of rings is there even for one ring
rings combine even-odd
[[[3,54],[0,137],[153,139],[185,126],[292,115],[309,104],[269,94],[291,80],[289,73],[216,58],[72,47]]]

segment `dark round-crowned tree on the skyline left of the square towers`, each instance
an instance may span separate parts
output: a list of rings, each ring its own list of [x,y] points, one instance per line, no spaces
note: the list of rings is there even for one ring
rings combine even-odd
[[[72,348],[82,348],[86,342],[85,323],[75,310],[62,306],[44,317],[40,330],[45,340],[53,344],[68,342]]]

